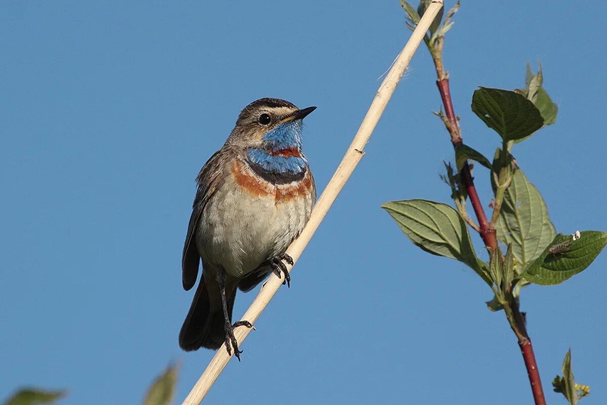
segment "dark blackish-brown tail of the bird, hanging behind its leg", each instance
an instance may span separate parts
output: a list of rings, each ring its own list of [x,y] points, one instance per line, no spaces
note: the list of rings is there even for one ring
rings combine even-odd
[[[228,303],[230,320],[232,319],[234,298],[236,298],[236,288],[229,290],[226,288],[226,302]],[[179,332],[181,349],[186,350],[186,352],[198,350],[200,347],[219,349],[225,341],[224,324],[219,285],[214,282],[205,282],[203,274],[200,277],[200,284],[196,289],[188,316],[183,321],[181,332]]]

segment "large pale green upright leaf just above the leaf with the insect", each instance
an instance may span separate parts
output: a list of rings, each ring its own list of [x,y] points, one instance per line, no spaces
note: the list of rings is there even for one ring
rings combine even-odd
[[[514,172],[504,193],[495,228],[500,242],[512,243],[512,253],[521,269],[540,256],[557,234],[544,199],[521,169]]]

